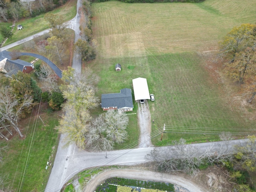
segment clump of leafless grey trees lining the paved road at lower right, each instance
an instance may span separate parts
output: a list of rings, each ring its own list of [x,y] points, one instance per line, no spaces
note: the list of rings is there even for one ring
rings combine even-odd
[[[202,164],[230,160],[232,154],[225,144],[214,146],[212,143],[209,148],[202,152],[198,147],[187,145],[186,140],[181,138],[174,142],[174,146],[168,146],[166,150],[155,148],[150,154],[147,154],[146,158],[155,162],[159,171],[183,170],[193,172]]]

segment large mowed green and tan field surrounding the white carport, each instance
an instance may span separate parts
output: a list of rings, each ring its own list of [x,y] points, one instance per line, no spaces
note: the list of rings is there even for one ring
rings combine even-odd
[[[88,66],[101,77],[98,96],[132,88],[133,78],[147,78],[156,98],[149,102],[152,132],[161,132],[166,124],[163,141],[160,135],[152,140],[156,145],[180,137],[215,140],[222,131],[235,136],[251,132],[255,122],[230,108],[231,97],[210,78],[202,53],[218,50],[218,42],[234,26],[255,23],[255,7],[251,0],[92,4],[98,53]],[[115,72],[116,63],[121,72]]]

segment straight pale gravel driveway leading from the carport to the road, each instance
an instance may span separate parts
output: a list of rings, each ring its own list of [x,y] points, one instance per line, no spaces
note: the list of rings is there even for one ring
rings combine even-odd
[[[147,148],[152,146],[151,133],[151,115],[148,107],[148,102],[138,103],[138,124],[140,127],[140,139],[138,148]]]

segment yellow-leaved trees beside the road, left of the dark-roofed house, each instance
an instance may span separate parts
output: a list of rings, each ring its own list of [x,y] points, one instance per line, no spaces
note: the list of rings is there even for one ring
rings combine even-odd
[[[89,70],[88,70],[89,71]],[[94,80],[97,78],[88,72],[88,75],[78,76],[74,68],[62,72],[63,85],[60,86],[63,97],[66,99],[62,116],[57,127],[60,133],[66,135],[66,143],[75,142],[80,148],[86,147],[85,134],[91,120],[90,110],[95,108],[98,98],[95,96]]]

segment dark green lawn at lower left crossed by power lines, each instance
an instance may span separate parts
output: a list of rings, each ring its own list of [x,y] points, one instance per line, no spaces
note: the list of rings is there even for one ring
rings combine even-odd
[[[22,132],[26,138],[16,134],[9,141],[0,143],[8,146],[7,152],[2,152],[4,159],[0,164],[0,175],[8,176],[7,182],[13,191],[44,191],[52,166],[46,170],[46,163],[53,163],[54,158],[50,156],[55,156],[58,148],[58,134],[54,129],[58,124],[58,113],[41,114],[47,124],[45,127],[37,112],[33,114],[35,117],[26,118],[20,125],[24,127]]]

